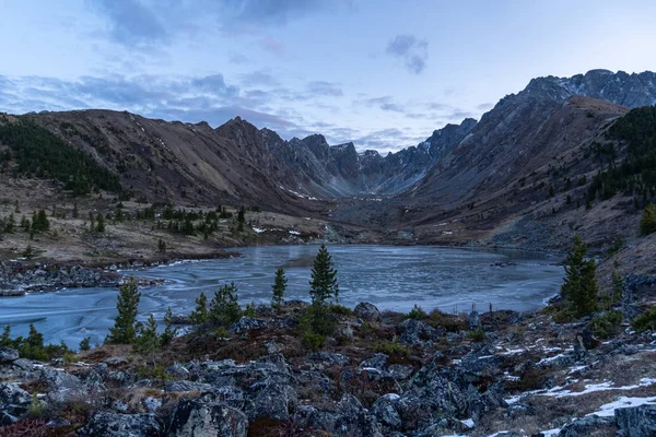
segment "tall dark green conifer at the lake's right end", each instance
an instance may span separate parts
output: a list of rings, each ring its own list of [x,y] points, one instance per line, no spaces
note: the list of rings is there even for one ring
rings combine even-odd
[[[561,287],[561,296],[578,317],[587,316],[598,308],[597,303],[597,265],[595,260],[585,260],[587,245],[581,235],[574,237],[574,245],[567,253],[565,282]]]

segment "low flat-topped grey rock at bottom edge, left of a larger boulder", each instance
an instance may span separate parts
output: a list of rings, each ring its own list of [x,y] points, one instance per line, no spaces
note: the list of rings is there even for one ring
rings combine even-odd
[[[78,432],[78,437],[159,437],[162,433],[154,414],[95,412]]]

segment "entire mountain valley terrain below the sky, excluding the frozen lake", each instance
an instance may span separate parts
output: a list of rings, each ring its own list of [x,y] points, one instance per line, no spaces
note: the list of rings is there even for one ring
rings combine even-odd
[[[538,78],[386,155],[239,117],[0,115],[0,305],[120,286],[104,345],[5,329],[0,435],[654,436],[655,105],[649,71]],[[137,321],[162,281],[122,269],[302,244],[548,252],[565,281],[524,314],[351,308],[321,246],[312,304],[283,299],[303,258],[270,306],[223,284],[164,331]]]

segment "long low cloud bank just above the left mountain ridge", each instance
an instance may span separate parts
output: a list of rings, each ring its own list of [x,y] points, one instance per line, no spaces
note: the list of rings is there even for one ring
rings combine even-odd
[[[298,129],[305,121],[289,110],[268,108],[272,96],[254,99],[222,74],[195,78],[140,75],[127,78],[82,76],[63,81],[44,76],[5,78],[0,75],[0,110],[27,113],[106,108],[129,110],[145,117],[208,121],[219,126],[241,116],[256,126],[280,130]]]

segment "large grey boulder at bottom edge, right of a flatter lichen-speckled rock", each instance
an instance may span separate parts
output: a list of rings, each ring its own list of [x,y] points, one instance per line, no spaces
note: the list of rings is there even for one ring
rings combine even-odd
[[[167,435],[172,437],[246,437],[248,420],[225,403],[180,401],[173,412]]]

